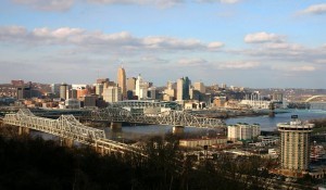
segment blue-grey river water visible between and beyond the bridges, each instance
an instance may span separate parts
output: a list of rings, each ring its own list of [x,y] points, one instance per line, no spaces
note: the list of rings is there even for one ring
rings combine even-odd
[[[224,122],[227,125],[237,123],[248,123],[248,124],[260,124],[261,130],[273,131],[276,129],[277,123],[285,123],[291,121],[291,115],[298,115],[302,121],[309,121],[313,118],[326,118],[326,111],[311,111],[311,110],[289,110],[288,113],[276,114],[275,117],[268,116],[252,116],[252,117],[237,117],[228,118]],[[146,125],[146,126],[123,126],[121,129],[111,129],[110,127],[103,127],[105,136],[112,140],[139,140],[152,136],[164,136],[167,132],[172,132],[173,126],[163,125]],[[210,132],[221,132],[220,130],[213,129],[201,129],[195,127],[185,127],[185,134],[197,134],[197,135],[208,135]],[[45,139],[57,139],[55,137],[38,131],[34,131],[33,135],[41,135]]]

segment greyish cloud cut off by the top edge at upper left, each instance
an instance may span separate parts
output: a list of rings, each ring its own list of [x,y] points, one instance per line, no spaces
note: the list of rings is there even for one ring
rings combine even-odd
[[[32,7],[41,11],[66,11],[74,4],[74,0],[12,0],[14,3]]]

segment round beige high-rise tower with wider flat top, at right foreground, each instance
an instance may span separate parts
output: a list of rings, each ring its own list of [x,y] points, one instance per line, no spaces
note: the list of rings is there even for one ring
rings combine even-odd
[[[280,132],[280,168],[294,174],[308,170],[310,162],[310,135],[314,124],[304,124],[292,116],[290,123],[277,124]]]

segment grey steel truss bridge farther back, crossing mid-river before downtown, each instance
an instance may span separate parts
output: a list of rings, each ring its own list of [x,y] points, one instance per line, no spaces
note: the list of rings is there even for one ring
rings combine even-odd
[[[109,106],[102,110],[88,112],[83,116],[96,122],[114,122],[131,124],[152,124],[170,126],[188,126],[198,128],[224,128],[225,124],[217,118],[195,116],[184,111],[166,111],[162,113],[134,113],[123,107]]]

